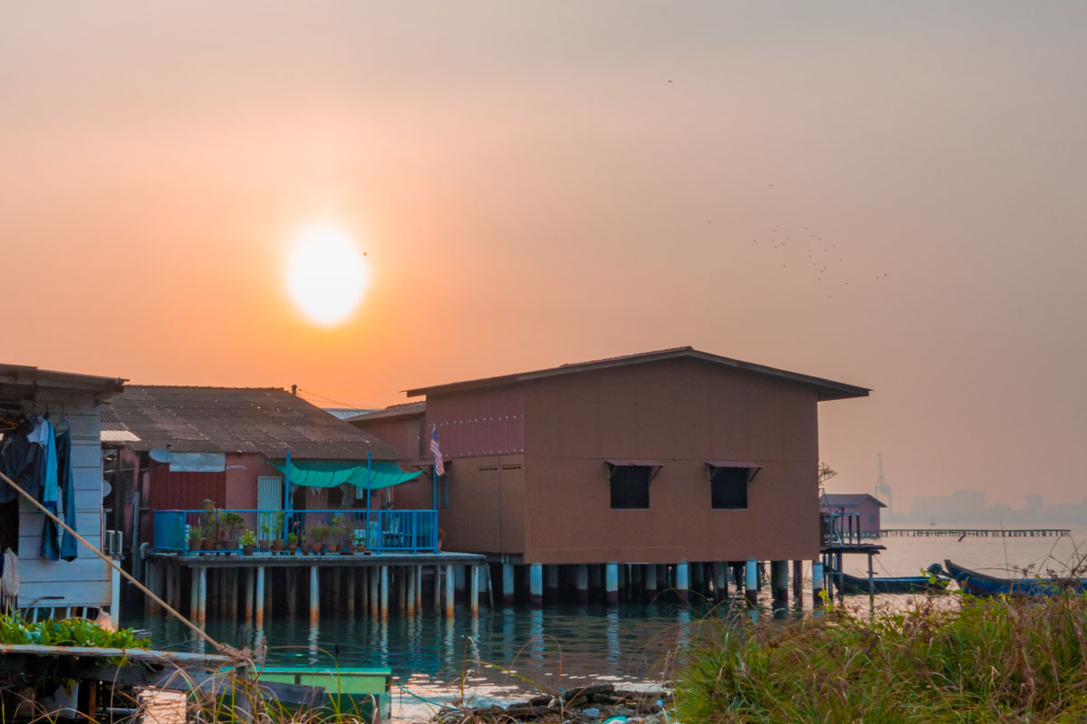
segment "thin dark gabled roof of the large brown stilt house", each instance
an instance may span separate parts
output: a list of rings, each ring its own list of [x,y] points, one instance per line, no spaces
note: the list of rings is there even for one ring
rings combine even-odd
[[[592,361],[560,365],[559,367],[549,367],[547,369],[535,370],[532,372],[517,372],[515,374],[502,374],[499,377],[488,377],[478,380],[467,380],[464,382],[451,382],[448,384],[437,384],[427,388],[415,388],[414,390],[408,390],[407,394],[409,397],[417,397],[418,395],[433,395],[443,392],[460,392],[462,390],[491,388],[516,382],[527,382],[529,380],[538,380],[546,377],[555,377],[559,374],[589,372],[601,369],[610,369],[613,367],[626,367],[629,365],[662,361],[665,359],[700,359],[714,365],[720,365],[722,367],[740,369],[755,374],[763,374],[778,378],[787,382],[803,384],[814,388],[819,393],[819,399],[821,401],[865,397],[869,392],[871,392],[867,388],[859,388],[857,385],[846,384],[845,382],[835,382],[834,380],[825,380],[819,377],[801,374],[799,372],[789,372],[774,367],[766,367],[765,365],[755,365],[754,363],[733,359],[730,357],[722,357],[708,352],[700,352],[694,347],[675,347],[673,350],[642,352],[634,355],[625,355],[623,357],[610,357],[608,359],[596,359]]]

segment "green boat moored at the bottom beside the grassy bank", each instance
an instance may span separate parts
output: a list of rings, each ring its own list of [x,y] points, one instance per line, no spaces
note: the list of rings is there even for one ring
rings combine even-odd
[[[264,666],[250,672],[258,683],[323,688],[326,701],[318,709],[335,715],[376,723],[388,721],[392,709],[392,671],[389,669]]]

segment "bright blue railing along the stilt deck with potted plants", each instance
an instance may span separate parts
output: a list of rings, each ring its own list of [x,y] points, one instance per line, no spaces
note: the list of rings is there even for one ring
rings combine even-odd
[[[246,531],[259,541],[285,544],[293,535],[303,549],[341,550],[346,545],[373,552],[438,549],[435,510],[155,510],[153,525],[152,547],[172,552],[208,550],[207,539],[213,550],[237,551]]]

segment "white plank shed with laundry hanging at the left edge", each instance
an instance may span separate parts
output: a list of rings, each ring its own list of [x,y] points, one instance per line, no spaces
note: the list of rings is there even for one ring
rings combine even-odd
[[[0,421],[5,450],[18,442],[21,428],[36,417],[48,416],[57,434],[71,443],[71,481],[60,480],[62,506],[74,504],[75,530],[96,548],[113,538],[105,535],[102,521],[102,458],[99,443],[100,406],[123,390],[124,380],[38,369],[23,365],[0,365]],[[13,473],[5,456],[4,474]],[[15,477],[9,474],[9,477]],[[18,479],[24,482],[27,478]],[[64,495],[71,485],[71,493]],[[120,581],[100,557],[77,544],[64,549],[59,560],[43,555],[46,516],[8,483],[0,482],[0,551],[11,550],[18,561],[20,609],[41,607],[53,610],[110,610],[116,618]],[[35,497],[40,498],[41,493]],[[110,545],[107,552],[113,551]],[[74,554],[74,557],[71,556]],[[71,560],[66,560],[71,558]]]

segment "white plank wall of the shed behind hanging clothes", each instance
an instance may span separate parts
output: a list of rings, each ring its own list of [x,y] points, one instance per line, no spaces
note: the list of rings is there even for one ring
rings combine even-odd
[[[39,393],[37,412],[49,408],[57,424],[63,416],[72,424],[72,474],[75,482],[76,531],[96,548],[102,545],[102,443],[98,405],[89,396],[64,397]],[[39,596],[62,596],[39,606],[109,607],[110,568],[82,543],[74,561],[51,561],[41,557],[41,525],[45,516],[25,498],[18,517],[18,606]],[[63,534],[63,532],[62,532]]]

